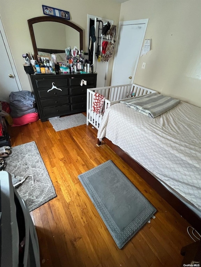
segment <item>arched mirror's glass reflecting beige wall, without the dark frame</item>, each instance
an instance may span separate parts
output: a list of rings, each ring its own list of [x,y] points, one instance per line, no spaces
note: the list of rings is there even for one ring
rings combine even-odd
[[[74,46],[79,50],[79,32],[58,22],[44,21],[33,25],[37,49],[64,50]]]

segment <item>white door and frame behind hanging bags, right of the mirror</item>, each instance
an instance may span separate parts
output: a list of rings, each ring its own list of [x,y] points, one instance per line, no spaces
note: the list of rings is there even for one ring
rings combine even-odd
[[[107,79],[107,72],[108,72],[108,62],[103,63],[102,61],[98,61],[96,58],[96,48],[97,48],[97,42],[98,42],[98,27],[100,26],[102,28],[102,23],[98,23],[97,20],[101,20],[103,23],[108,22],[111,23],[111,25],[114,24],[113,20],[106,19],[106,18],[100,18],[100,17],[95,17],[93,15],[88,14],[88,21],[89,19],[94,19],[95,22],[95,37],[96,37],[96,42],[94,43],[94,54],[93,54],[93,72],[97,73],[97,81],[96,81],[96,87],[104,87],[106,84],[106,79]],[[89,25],[89,23],[88,23]],[[87,27],[89,31],[89,26]],[[99,33],[101,33],[101,30],[99,30]],[[89,36],[89,34],[87,34]],[[103,40],[104,41],[104,40]],[[105,40],[109,41],[109,40]],[[89,41],[87,40],[87,44],[89,44]]]

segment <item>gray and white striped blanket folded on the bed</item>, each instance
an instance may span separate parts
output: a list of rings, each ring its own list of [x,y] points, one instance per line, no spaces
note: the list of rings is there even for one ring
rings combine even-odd
[[[121,100],[120,102],[150,118],[155,118],[175,107],[180,100],[166,95],[153,93],[149,95],[133,97],[126,101]]]

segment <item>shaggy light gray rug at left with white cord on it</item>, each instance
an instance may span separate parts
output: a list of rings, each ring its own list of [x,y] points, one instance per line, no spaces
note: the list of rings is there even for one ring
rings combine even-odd
[[[35,142],[11,148],[12,155],[5,159],[5,171],[11,173],[13,184],[26,180],[16,187],[20,197],[27,203],[29,211],[40,207],[52,198],[56,192],[40,152]],[[34,183],[33,183],[34,179]]]

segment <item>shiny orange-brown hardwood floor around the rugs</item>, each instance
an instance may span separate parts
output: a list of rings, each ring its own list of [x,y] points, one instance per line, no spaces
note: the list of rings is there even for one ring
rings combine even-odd
[[[180,266],[180,250],[193,243],[185,221],[109,147],[96,146],[91,125],[55,132],[49,121],[10,127],[12,146],[35,141],[57,197],[31,212],[41,266]],[[27,151],[28,153],[29,151]],[[157,209],[156,218],[118,249],[78,175],[111,159]]]

